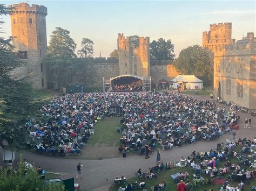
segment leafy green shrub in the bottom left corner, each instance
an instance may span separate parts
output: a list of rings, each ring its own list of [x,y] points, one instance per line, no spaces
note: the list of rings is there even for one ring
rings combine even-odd
[[[36,168],[28,168],[25,163],[21,161],[16,170],[0,167],[0,190],[64,191],[65,186],[62,183],[50,183],[46,186],[44,180],[40,179]]]

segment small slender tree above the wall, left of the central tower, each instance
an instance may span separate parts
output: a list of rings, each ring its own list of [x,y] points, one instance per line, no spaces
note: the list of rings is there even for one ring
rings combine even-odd
[[[81,43],[81,49],[78,51],[78,54],[81,58],[92,58],[93,57],[93,41],[89,38],[83,38]]]

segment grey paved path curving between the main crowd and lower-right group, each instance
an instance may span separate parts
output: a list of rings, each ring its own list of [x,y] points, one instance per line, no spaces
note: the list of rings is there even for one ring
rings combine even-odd
[[[223,105],[221,105],[223,107]],[[237,130],[237,137],[253,138],[256,136],[256,117],[252,118],[252,128],[244,129],[243,123],[246,114],[240,115],[240,130]],[[220,137],[220,139],[209,142],[197,142],[183,147],[174,147],[172,150],[161,151],[161,160],[163,162],[174,160],[179,161],[181,156],[187,157],[193,151],[207,151],[210,148],[217,147],[217,143],[225,142],[226,139],[232,140],[231,133],[227,133]],[[86,152],[86,150],[84,151]],[[48,172],[56,172],[64,174],[61,178],[72,178],[76,176],[76,165],[80,161],[84,167],[82,169],[83,179],[78,180],[81,188],[87,190],[107,190],[108,186],[112,184],[112,180],[116,176],[124,175],[130,178],[134,175],[134,171],[142,168],[142,171],[147,171],[149,167],[156,165],[156,152],[150,155],[150,159],[145,159],[144,156],[131,155],[126,158],[111,158],[104,160],[85,160],[85,159],[65,159],[53,158],[45,155],[39,155],[27,151],[23,151],[23,156],[36,166],[42,165]],[[0,156],[2,158],[2,156]],[[17,161],[17,160],[16,160]]]

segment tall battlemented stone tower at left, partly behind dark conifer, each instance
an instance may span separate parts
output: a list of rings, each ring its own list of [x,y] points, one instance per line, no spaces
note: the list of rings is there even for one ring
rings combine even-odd
[[[47,52],[47,8],[28,3],[9,5],[9,8],[14,8],[11,14],[11,33],[15,38],[15,55],[23,60],[23,65],[14,70],[12,76],[25,77],[34,88],[46,88],[46,67],[42,59]]]

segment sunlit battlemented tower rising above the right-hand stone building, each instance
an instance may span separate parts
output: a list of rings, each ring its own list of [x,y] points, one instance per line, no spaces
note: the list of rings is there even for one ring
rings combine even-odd
[[[203,47],[214,52],[221,52],[223,47],[234,43],[231,38],[232,23],[211,24],[210,31],[203,32]]]

